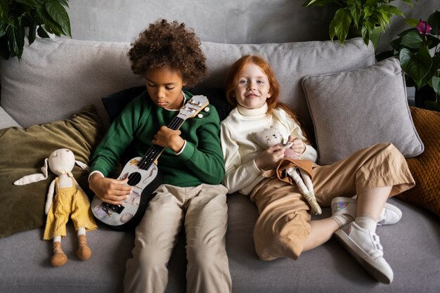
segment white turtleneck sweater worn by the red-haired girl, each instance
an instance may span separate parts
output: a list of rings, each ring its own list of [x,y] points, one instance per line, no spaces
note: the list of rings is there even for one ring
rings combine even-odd
[[[247,109],[238,105],[221,122],[221,149],[226,169],[223,183],[229,189],[228,193],[240,191],[249,195],[255,185],[264,179],[264,170],[258,169],[254,159],[265,149],[252,139],[253,132],[276,126],[285,140],[292,135],[306,141],[301,127],[285,110],[277,108],[271,115],[267,115],[267,109],[267,104],[259,109]],[[300,157],[316,162],[318,155],[311,145],[306,145],[306,150]]]

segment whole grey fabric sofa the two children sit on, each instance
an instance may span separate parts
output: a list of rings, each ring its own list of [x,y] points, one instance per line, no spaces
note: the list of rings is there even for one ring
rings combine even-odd
[[[68,119],[90,104],[96,105],[107,127],[109,118],[101,98],[143,85],[143,80],[131,73],[128,48],[129,43],[37,39],[25,48],[20,63],[0,60],[0,128],[27,128]],[[299,113],[311,134],[313,121],[302,89],[303,77],[357,70],[375,63],[372,46],[365,46],[361,39],[349,40],[344,46],[330,41],[260,45],[202,42],[202,49],[209,74],[200,87],[207,89],[221,88],[228,65],[244,54],[257,53],[268,59],[281,84],[281,99]],[[39,166],[34,167],[38,171]],[[399,199],[389,202],[403,211],[403,218],[394,226],[377,228],[385,257],[394,268],[394,281],[383,285],[335,239],[305,252],[297,261],[259,260],[252,240],[257,208],[249,197],[228,195],[226,246],[233,292],[440,292],[438,216]],[[325,207],[323,216],[329,215],[330,208]],[[42,228],[2,237],[0,292],[122,292],[133,233],[100,225],[87,234],[93,255],[82,262],[75,257],[77,242],[72,224],[67,227],[63,245],[69,261],[61,268],[52,268],[49,263],[51,242],[42,240]],[[169,261],[167,292],[185,292],[185,267],[182,234]]]

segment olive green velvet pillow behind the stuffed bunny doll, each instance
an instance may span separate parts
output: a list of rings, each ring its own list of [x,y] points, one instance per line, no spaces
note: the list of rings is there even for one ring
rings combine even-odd
[[[91,152],[101,137],[101,121],[93,106],[72,119],[27,129],[1,129],[0,237],[43,226],[48,185],[55,175],[49,172],[46,180],[27,185],[13,185],[14,181],[25,175],[41,173],[44,159],[58,148],[69,148],[75,153],[75,159],[89,164]],[[88,172],[75,165],[72,174],[89,193]]]

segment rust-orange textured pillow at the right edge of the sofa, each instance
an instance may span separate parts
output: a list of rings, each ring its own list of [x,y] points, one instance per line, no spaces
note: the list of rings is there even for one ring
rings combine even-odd
[[[415,107],[410,109],[425,152],[406,159],[415,186],[397,197],[440,216],[440,112]]]

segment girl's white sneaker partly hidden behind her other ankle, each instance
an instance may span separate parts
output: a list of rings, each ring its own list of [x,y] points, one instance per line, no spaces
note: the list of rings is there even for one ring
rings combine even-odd
[[[333,214],[349,214],[353,219],[356,219],[356,200],[350,197],[335,197],[332,200],[332,215]],[[388,202],[380,212],[377,225],[392,225],[402,219],[402,211],[399,207]]]

